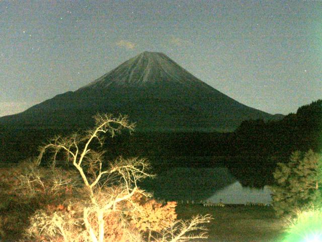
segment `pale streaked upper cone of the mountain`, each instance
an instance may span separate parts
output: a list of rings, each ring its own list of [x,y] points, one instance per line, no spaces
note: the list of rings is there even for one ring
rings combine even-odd
[[[208,86],[162,52],[144,51],[77,91],[163,85]]]

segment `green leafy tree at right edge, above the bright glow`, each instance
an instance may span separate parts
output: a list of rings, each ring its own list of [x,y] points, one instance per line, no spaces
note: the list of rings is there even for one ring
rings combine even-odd
[[[309,150],[293,152],[288,163],[278,163],[272,186],[273,207],[278,215],[294,214],[298,210],[321,202],[322,157]]]

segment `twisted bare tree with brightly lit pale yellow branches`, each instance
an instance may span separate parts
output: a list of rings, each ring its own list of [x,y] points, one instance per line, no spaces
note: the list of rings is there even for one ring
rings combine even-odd
[[[150,196],[137,186],[139,180],[152,176],[148,173],[149,164],[145,159],[119,157],[114,162],[104,165],[104,152],[95,151],[92,146],[94,141],[103,145],[105,134],[109,133],[113,137],[122,129],[132,131],[134,125],[128,122],[126,116],[113,118],[108,114],[96,115],[95,121],[95,128],[85,135],[75,133],[68,137],[57,136],[41,147],[38,164],[43,160],[44,154],[51,151],[51,164],[54,168],[57,157],[64,154],[68,164],[72,164],[81,176],[82,185],[79,185],[77,197],[70,202],[66,211],[55,211],[50,215],[45,211],[36,213],[31,218],[33,222],[27,231],[29,236],[44,234],[54,240],[54,236],[59,235],[65,242],[107,241],[107,231],[111,229],[109,218],[118,213],[120,216],[117,223],[122,225],[126,241],[142,241],[140,234],[132,232],[128,227],[129,223],[126,221],[128,211],[125,210],[128,210],[128,204],[130,209],[137,209],[131,199],[134,194]],[[59,184],[64,184],[64,181],[59,180]],[[125,202],[127,206],[122,205]],[[72,206],[74,208],[71,209]],[[72,213],[70,210],[73,210]],[[206,237],[204,232],[189,236],[185,234],[192,230],[203,229],[198,224],[209,222],[209,219],[209,216],[198,216],[190,223],[176,222],[164,229],[154,241],[179,242],[188,241],[188,238],[204,238]]]

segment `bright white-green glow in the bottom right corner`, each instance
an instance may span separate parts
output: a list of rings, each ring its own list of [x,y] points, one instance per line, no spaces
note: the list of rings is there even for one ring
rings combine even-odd
[[[283,242],[322,242],[322,209],[299,213]]]

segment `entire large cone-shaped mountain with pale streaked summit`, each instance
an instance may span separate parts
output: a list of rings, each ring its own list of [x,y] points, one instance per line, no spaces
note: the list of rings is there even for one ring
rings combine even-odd
[[[79,88],[0,118],[0,125],[75,128],[97,112],[127,114],[139,131],[233,131],[247,119],[280,119],[202,82],[167,55],[143,52]]]

